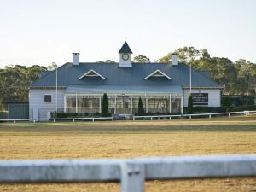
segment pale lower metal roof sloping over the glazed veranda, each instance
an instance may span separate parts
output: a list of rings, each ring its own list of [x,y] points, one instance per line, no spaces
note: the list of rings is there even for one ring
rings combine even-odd
[[[68,86],[66,93],[179,93],[182,95],[181,86],[177,85],[160,85],[160,86],[131,86],[131,85],[88,85],[84,86]]]

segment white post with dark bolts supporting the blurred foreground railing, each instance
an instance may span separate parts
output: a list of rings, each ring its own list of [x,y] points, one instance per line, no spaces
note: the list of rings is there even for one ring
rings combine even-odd
[[[120,168],[121,192],[144,192],[144,165],[123,162]]]

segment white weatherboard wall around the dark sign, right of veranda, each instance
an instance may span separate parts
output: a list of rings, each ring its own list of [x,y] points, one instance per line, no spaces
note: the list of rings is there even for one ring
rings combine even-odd
[[[183,89],[183,107],[188,107],[189,89]],[[208,107],[220,107],[219,89],[192,89],[192,93],[208,93]]]

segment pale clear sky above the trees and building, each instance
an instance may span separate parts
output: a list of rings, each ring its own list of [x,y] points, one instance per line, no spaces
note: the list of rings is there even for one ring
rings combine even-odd
[[[125,39],[151,61],[183,46],[256,62],[255,0],[0,0],[0,67],[119,61]]]

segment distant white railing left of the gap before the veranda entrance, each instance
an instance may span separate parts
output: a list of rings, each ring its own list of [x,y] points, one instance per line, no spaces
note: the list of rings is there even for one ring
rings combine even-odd
[[[75,122],[76,120],[91,120],[91,121],[95,121],[95,120],[112,120],[113,121],[113,117],[89,117],[89,118],[38,118],[38,119],[0,119],[0,122],[19,122],[19,121],[31,121],[31,122],[38,122],[38,121],[61,121],[61,120],[69,120],[69,121],[73,121]]]

